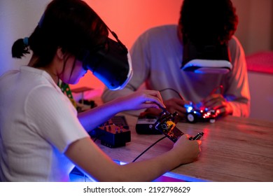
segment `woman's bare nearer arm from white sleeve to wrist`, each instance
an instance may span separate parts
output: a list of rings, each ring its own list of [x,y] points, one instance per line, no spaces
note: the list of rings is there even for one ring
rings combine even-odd
[[[173,148],[149,160],[118,165],[90,142],[90,138],[83,138],[70,144],[65,155],[97,181],[153,181],[181,163],[189,162],[188,151],[183,149],[188,148]]]

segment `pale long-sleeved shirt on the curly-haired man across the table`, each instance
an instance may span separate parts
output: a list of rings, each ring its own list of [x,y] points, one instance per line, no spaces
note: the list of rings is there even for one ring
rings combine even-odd
[[[200,74],[182,71],[183,45],[179,41],[177,25],[153,27],[141,34],[132,46],[133,76],[123,90],[104,90],[102,100],[109,102],[138,90],[145,84],[147,89],[172,88],[183,99],[198,103],[220,85],[223,95],[233,108],[233,116],[248,116],[250,94],[244,50],[235,36],[229,41],[232,71],[226,74]],[[167,100],[179,98],[173,90],[161,92]],[[136,113],[138,114],[138,113]]]

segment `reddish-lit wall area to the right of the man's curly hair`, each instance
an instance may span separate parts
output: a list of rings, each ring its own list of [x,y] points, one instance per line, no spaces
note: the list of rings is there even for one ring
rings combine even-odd
[[[232,0],[237,8],[239,25],[235,35],[246,55],[273,50],[273,1]]]

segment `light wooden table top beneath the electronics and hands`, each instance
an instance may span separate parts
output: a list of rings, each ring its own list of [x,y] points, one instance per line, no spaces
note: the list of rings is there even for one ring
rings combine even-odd
[[[131,142],[119,148],[96,143],[113,160],[132,162],[162,135],[135,132],[137,117],[125,116],[130,125]],[[273,123],[251,118],[227,116],[216,123],[178,123],[184,133],[204,132],[199,160],[181,165],[165,174],[186,181],[273,181]],[[139,160],[152,158],[172,148],[172,141],[163,139]]]

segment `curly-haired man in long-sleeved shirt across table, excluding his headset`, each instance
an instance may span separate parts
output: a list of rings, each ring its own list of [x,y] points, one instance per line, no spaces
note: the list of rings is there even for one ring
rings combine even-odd
[[[139,36],[130,51],[134,71],[132,80],[123,90],[104,90],[103,101],[123,97],[145,83],[147,89],[161,91],[167,110],[177,111],[181,118],[185,116],[184,104],[188,102],[215,109],[221,116],[249,116],[250,94],[244,50],[233,36],[237,23],[230,0],[184,0],[179,25],[154,27]],[[233,68],[225,74],[181,70],[184,45],[189,41],[195,45],[228,45]],[[223,86],[223,94],[219,93],[220,86]]]

